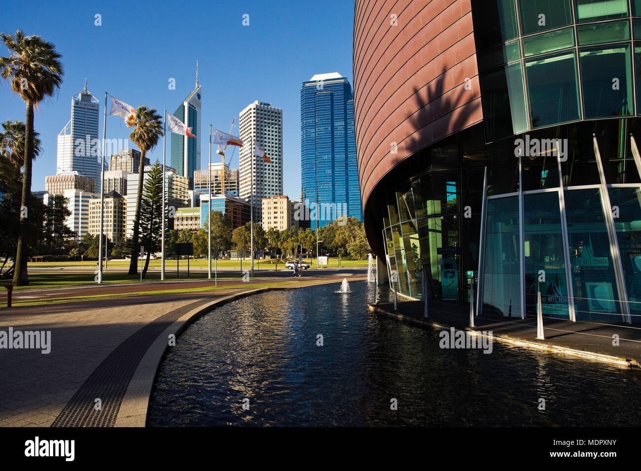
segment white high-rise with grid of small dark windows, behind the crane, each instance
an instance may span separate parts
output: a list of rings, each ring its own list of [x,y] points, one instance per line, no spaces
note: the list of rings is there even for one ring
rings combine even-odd
[[[240,197],[251,200],[254,222],[262,222],[263,198],[283,194],[283,110],[271,103],[254,101],[240,112],[238,136],[240,147]],[[251,165],[255,140],[270,158],[271,163],[254,157],[254,186],[251,186]]]

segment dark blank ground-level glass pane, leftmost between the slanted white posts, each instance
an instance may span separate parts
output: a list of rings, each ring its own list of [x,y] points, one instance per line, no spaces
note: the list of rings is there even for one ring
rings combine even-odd
[[[487,202],[483,314],[520,317],[519,199]]]

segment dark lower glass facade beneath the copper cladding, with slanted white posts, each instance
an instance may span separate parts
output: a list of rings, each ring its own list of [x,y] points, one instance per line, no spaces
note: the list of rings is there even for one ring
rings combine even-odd
[[[515,155],[519,139],[546,136],[567,143],[563,156],[556,147]],[[545,317],[641,322],[641,160],[631,137],[641,140],[641,119],[563,124],[492,144],[478,124],[413,154],[375,196],[398,292],[469,302],[478,283],[484,316],[534,316],[540,292]]]

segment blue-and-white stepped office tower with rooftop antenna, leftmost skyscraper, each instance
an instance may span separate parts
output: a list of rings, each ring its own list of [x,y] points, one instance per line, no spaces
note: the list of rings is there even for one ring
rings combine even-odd
[[[58,134],[56,174],[77,172],[96,181],[100,193],[100,153],[98,100],[85,88],[71,99],[71,120]]]

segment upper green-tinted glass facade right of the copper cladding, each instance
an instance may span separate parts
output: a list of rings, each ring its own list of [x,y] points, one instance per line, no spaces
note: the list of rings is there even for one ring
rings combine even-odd
[[[472,0],[486,142],[640,115],[637,16],[638,0]]]

